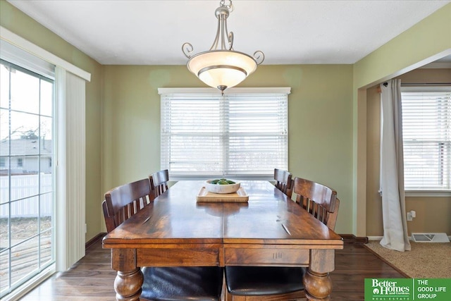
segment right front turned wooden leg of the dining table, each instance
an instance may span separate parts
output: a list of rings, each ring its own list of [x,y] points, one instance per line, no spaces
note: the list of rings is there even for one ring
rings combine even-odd
[[[307,300],[328,301],[332,292],[329,272],[335,269],[335,250],[310,250],[310,263],[304,275]]]

